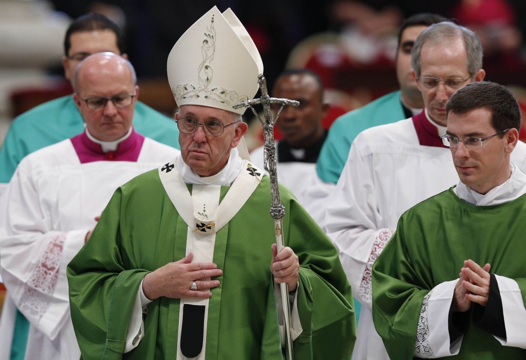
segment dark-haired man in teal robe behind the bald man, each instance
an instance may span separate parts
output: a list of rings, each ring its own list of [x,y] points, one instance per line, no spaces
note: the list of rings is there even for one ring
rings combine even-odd
[[[124,41],[122,30],[106,16],[90,13],[78,17],[64,39],[64,76],[72,82],[78,63],[97,52],[110,51],[127,58]],[[140,101],[135,105],[133,123],[140,134],[179,149],[173,120]],[[24,156],[83,130],[84,120],[73,95],[48,101],[15,118],[0,149],[0,195]]]

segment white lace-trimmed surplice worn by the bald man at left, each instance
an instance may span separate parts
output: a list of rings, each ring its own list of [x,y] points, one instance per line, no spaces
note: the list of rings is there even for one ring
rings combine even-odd
[[[115,189],[179,151],[145,139],[137,162],[81,164],[70,140],[19,164],[0,204],[0,262],[7,298],[29,320],[26,359],[70,360],[80,351],[69,315],[66,266]],[[11,308],[14,310],[14,308]],[[4,310],[3,317],[13,319]],[[0,326],[0,359],[8,359],[13,321]]]

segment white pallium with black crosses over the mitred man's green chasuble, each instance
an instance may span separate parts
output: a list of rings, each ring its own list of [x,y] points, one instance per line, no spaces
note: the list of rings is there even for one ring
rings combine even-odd
[[[201,178],[201,184],[209,185],[194,184],[190,195],[183,176],[179,171],[179,169],[181,169],[183,172],[188,172],[189,168],[182,162],[180,156],[164,166],[159,167],[159,178],[161,183],[179,213],[179,216],[181,216],[186,225],[188,225],[186,254],[190,251],[194,253],[192,262],[213,261],[216,233],[238,213],[259,185],[261,178],[264,175],[263,171],[252,166],[249,161],[241,160],[236,155],[237,153],[233,151],[225,168],[219,174],[214,175],[216,178],[228,179],[234,178],[232,177],[232,175],[235,175],[232,174],[233,172],[238,172],[235,181],[232,183],[228,193],[225,195],[221,203],[219,203],[221,186],[212,185],[216,183],[214,182],[214,179],[210,179],[210,182],[207,183],[207,178]],[[239,170],[239,168],[241,170]],[[227,174],[224,172],[227,172]],[[221,181],[219,182],[221,183]],[[183,321],[184,304],[206,306],[203,349],[196,357],[197,360],[205,359],[208,302],[209,299],[181,299],[177,338],[178,359],[186,359],[180,351],[180,333]]]

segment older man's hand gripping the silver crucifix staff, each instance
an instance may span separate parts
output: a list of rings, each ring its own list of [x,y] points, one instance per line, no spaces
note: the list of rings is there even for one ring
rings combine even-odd
[[[288,291],[294,291],[298,287],[299,260],[298,256],[288,246],[278,253],[277,245],[272,244],[272,262],[270,270],[274,275],[276,283],[286,282]]]

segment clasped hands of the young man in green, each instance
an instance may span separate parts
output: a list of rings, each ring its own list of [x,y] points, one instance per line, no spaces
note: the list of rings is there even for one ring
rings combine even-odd
[[[486,306],[490,293],[490,264],[483,267],[473,260],[464,260],[464,267],[460,269],[457,284],[453,293],[451,310],[468,311],[471,303]]]

